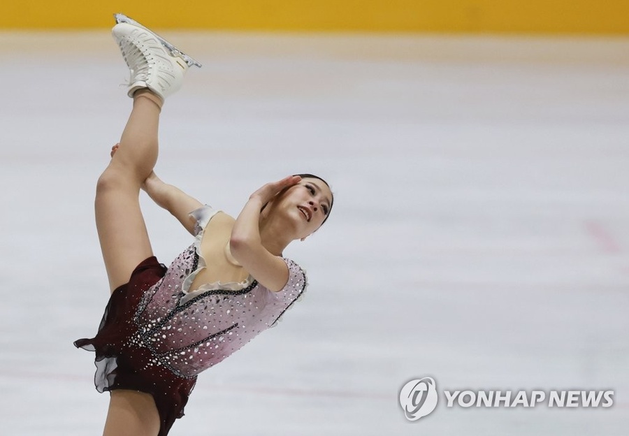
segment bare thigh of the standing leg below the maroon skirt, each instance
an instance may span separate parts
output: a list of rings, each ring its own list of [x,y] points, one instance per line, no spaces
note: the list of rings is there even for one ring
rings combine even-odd
[[[159,413],[152,395],[138,391],[111,391],[103,436],[156,436]]]

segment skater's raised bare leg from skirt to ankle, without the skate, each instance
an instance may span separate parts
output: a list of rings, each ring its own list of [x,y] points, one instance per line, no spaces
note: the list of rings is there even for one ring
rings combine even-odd
[[[153,255],[139,195],[157,161],[160,105],[147,89],[136,92],[120,146],[96,185],[96,228],[111,291]]]

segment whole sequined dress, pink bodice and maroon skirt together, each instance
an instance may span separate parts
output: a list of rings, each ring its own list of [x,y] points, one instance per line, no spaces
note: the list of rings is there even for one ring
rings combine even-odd
[[[96,351],[99,392],[132,388],[152,393],[161,436],[183,416],[196,376],[275,326],[307,284],[303,269],[284,258],[289,279],[281,291],[269,291],[253,277],[189,291],[206,266],[201,239],[216,213],[209,206],[191,212],[194,243],[168,268],[154,257],[140,263],[129,283],[113,292],[96,337],[75,342]]]

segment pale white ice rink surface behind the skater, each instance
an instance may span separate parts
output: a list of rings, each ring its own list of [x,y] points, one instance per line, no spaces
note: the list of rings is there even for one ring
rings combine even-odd
[[[286,254],[305,299],[198,381],[171,435],[626,435],[629,40],[162,32],[201,61],[156,173],[237,215],[317,173]],[[0,34],[3,435],[99,435],[96,179],[131,108],[108,31]],[[191,242],[144,201],[154,252]],[[613,390],[609,408],[446,407],[438,390]]]

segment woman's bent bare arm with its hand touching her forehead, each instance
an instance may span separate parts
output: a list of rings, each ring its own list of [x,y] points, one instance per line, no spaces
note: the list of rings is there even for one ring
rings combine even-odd
[[[260,212],[277,193],[300,180],[299,176],[289,176],[279,182],[267,183],[255,191],[238,215],[231,231],[231,255],[270,291],[281,291],[284,288],[289,279],[289,270],[284,259],[270,253],[262,245]]]

